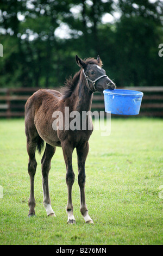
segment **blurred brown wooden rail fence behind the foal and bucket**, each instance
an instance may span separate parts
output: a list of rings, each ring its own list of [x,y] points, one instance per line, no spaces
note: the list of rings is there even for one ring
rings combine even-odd
[[[39,88],[0,88],[0,117],[24,117],[24,105],[27,99]],[[55,88],[59,89],[59,88]],[[122,88],[121,88],[122,89]],[[139,116],[163,117],[163,87],[125,87],[123,89],[143,92]],[[93,95],[92,111],[104,111],[104,95]],[[115,115],[116,117],[125,117]]]

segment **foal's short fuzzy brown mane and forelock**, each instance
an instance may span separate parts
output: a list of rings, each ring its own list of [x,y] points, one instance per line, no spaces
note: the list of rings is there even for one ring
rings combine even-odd
[[[86,64],[96,64],[98,66],[102,66],[102,61],[100,60],[100,62],[97,61],[97,59],[95,58],[87,58],[84,59],[84,62]],[[61,92],[62,92],[62,99],[66,99],[67,97],[70,97],[72,92],[74,91],[74,89],[76,88],[78,82],[79,82],[79,78],[80,78],[80,73],[81,73],[82,69],[80,69],[72,78],[72,76],[70,76],[68,79],[66,79],[65,85],[61,88]]]

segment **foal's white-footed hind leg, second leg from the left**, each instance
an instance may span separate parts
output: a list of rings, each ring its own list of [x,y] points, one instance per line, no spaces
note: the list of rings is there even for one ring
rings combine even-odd
[[[54,211],[51,206],[51,199],[49,197],[49,187],[48,187],[48,174],[51,169],[51,159],[55,153],[55,147],[46,143],[46,149],[42,156],[42,187],[43,187],[43,206],[46,209],[47,215],[55,216]]]

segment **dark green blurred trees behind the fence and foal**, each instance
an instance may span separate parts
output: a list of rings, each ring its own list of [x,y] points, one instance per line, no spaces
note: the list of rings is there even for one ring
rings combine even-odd
[[[99,54],[118,87],[162,86],[162,11],[150,0],[1,0],[0,86],[61,86],[78,70],[76,54]]]

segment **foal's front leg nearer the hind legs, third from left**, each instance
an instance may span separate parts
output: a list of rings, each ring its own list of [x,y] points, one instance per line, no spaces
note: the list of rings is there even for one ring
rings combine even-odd
[[[67,184],[67,190],[68,190],[68,202],[66,206],[66,212],[68,215],[68,224],[74,224],[76,223],[76,220],[73,216],[73,205],[72,205],[72,185],[74,182],[74,172],[72,169],[72,153],[73,153],[73,147],[70,143],[67,141],[62,142],[62,151],[64,154],[64,159],[66,163],[66,184]]]

